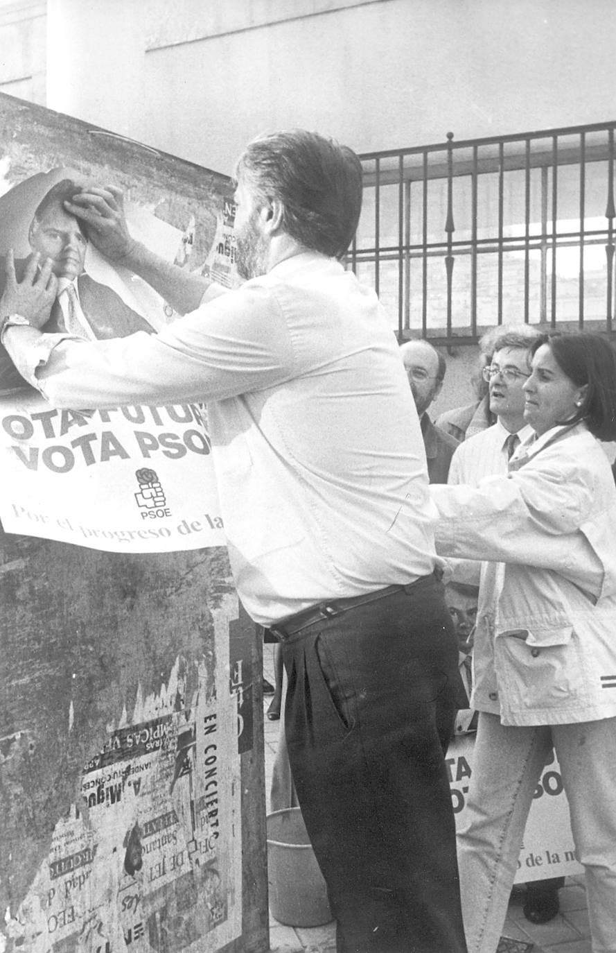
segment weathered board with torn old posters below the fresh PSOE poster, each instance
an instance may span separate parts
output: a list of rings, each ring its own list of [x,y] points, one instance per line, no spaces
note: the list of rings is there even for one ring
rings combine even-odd
[[[260,662],[225,550],[1,558],[3,948],[267,948]]]

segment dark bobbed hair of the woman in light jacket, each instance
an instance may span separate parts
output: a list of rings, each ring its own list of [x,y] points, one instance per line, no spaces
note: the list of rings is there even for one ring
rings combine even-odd
[[[599,440],[616,440],[616,353],[605,337],[587,331],[540,335],[531,355],[547,344],[561,371],[576,387],[586,386],[586,396],[570,420],[585,420]]]

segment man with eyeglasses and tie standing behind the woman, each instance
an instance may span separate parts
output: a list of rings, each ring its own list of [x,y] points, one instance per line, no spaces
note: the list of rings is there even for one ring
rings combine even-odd
[[[491,363],[484,370],[489,388],[489,410],[496,423],[468,437],[455,451],[449,468],[448,483],[477,486],[485,476],[507,473],[515,449],[532,428],[524,419],[525,395],[522,387],[530,376],[529,348],[539,335],[529,329],[507,332],[497,337]],[[450,561],[452,579],[457,583],[479,585],[481,563],[472,559]],[[527,883],[524,915],[531,923],[547,923],[559,910],[558,889],[563,878]]]

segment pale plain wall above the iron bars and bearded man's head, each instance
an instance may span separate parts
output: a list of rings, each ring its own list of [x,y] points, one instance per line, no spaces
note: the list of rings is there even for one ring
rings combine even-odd
[[[358,151],[613,116],[613,0],[49,0],[48,105],[230,172],[306,126]]]

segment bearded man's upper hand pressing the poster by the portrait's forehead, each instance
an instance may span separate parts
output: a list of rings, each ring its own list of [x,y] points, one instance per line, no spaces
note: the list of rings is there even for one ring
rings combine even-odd
[[[130,237],[121,189],[112,185],[84,186],[64,206],[83,222],[89,241],[101,254],[116,264],[127,262],[136,242]]]

